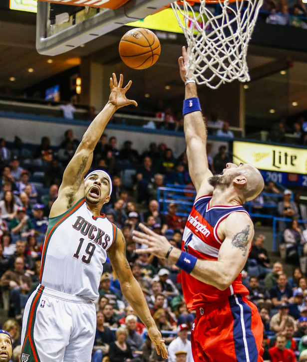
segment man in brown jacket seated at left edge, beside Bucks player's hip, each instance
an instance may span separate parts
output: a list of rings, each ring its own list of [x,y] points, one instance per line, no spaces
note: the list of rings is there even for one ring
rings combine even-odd
[[[21,319],[21,308],[24,308],[32,284],[31,278],[25,275],[23,268],[23,259],[17,257],[14,261],[14,270],[7,270],[0,279],[1,287],[9,288],[9,298],[16,319]]]

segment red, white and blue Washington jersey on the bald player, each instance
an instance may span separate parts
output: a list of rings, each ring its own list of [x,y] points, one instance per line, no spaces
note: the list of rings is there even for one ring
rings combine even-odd
[[[202,196],[195,200],[192,211],[186,222],[182,238],[182,250],[196,256],[198,259],[218,260],[218,254],[223,240],[218,237],[217,229],[222,220],[232,212],[248,212],[242,205],[212,206],[212,195]],[[241,273],[225,290],[203,283],[190,274],[181,271],[182,289],[189,310],[214,303],[221,298],[234,294],[246,296],[248,289],[242,284]]]

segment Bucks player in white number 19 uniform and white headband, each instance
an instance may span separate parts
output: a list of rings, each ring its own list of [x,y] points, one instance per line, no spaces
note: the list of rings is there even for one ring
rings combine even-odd
[[[157,353],[166,347],[151,317],[140,285],[126,259],[124,236],[103,214],[112,181],[103,170],[86,177],[93,151],[105,126],[120,107],[137,103],[126,98],[131,81],[122,88],[113,73],[108,103],[91,122],[67,165],[49,215],[43,246],[40,284],[29,297],[22,321],[21,361],[75,362],[91,360],[96,331],[93,300],[107,254],[121,291],[148,330]],[[84,178],[85,177],[85,178]]]

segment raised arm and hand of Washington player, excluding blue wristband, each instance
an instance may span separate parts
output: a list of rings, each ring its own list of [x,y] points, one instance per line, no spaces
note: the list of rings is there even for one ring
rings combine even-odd
[[[182,48],[182,56],[179,58],[178,63],[181,79],[186,82],[188,80],[186,77],[188,51],[185,47]],[[185,85],[185,100],[188,101],[186,102],[189,102],[189,99],[191,98],[197,97],[196,83],[187,83]],[[185,114],[184,134],[187,143],[189,173],[196,188],[196,192],[198,196],[210,194],[212,193],[213,188],[207,180],[212,176],[212,173],[208,167],[206,152],[207,128],[201,111]]]

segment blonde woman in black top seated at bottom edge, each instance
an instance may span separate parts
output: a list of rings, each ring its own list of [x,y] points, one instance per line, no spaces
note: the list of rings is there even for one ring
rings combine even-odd
[[[134,362],[130,347],[126,340],[128,331],[125,327],[119,327],[115,332],[116,341],[110,343],[109,360],[110,362]]]

